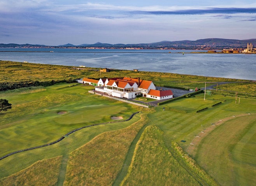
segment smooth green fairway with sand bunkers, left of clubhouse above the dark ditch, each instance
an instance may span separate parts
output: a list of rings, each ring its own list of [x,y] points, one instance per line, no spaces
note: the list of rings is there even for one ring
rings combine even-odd
[[[0,156],[50,143],[82,126],[113,121],[111,115],[127,119],[137,111],[126,103],[91,95],[91,88],[57,84],[46,91],[5,96],[12,109],[1,113]]]

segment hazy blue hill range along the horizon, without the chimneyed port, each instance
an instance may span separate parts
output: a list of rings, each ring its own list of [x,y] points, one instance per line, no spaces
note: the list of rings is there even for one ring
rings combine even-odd
[[[202,50],[222,50],[223,48],[246,48],[247,43],[252,43],[256,46],[256,39],[249,40],[232,40],[232,39],[222,39],[222,38],[207,38],[200,40],[182,40],[182,41],[160,41],[155,43],[139,43],[139,44],[109,44],[100,43],[95,44],[82,44],[73,45],[65,44],[58,46],[46,46],[46,45],[31,45],[31,44],[0,44],[1,48],[12,48],[12,47],[95,47],[95,48],[144,48],[144,49],[158,49],[158,48],[170,48],[170,49],[202,49]]]

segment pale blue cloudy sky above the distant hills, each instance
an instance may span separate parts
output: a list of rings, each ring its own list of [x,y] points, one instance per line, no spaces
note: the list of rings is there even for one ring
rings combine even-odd
[[[256,38],[255,0],[1,0],[0,43]]]

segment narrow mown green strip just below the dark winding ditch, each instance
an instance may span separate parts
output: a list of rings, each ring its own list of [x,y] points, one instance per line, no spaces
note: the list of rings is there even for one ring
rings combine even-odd
[[[15,172],[25,169],[29,165],[42,160],[44,158],[56,157],[59,155],[67,155],[75,149],[81,147],[85,143],[91,141],[95,136],[106,131],[122,129],[130,126],[133,122],[139,120],[140,116],[137,114],[132,120],[122,123],[113,123],[106,125],[99,125],[89,128],[84,128],[80,131],[72,133],[68,138],[51,146],[38,148],[31,151],[21,152],[16,155],[4,158],[0,161],[0,178],[14,174]]]

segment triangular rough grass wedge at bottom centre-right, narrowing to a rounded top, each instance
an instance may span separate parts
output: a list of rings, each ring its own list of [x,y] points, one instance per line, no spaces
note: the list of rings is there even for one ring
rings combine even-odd
[[[200,185],[168,151],[163,132],[146,127],[133,155],[132,164],[122,186],[128,185]]]

